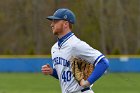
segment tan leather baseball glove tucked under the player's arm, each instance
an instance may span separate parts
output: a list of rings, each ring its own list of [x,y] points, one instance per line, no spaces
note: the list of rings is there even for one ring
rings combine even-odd
[[[87,78],[94,70],[93,64],[88,63],[84,59],[76,57],[71,58],[71,66],[72,73],[78,82],[80,82],[82,79],[87,80]]]

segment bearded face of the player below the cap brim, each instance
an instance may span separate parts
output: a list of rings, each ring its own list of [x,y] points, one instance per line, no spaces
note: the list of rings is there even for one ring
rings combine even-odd
[[[54,35],[59,35],[63,32],[64,20],[52,20],[51,27]]]

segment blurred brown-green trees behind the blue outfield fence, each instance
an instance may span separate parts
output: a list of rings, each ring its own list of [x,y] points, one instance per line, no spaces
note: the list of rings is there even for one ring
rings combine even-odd
[[[56,37],[45,18],[76,14],[73,32],[104,54],[140,54],[140,0],[1,0],[0,54],[50,54]]]

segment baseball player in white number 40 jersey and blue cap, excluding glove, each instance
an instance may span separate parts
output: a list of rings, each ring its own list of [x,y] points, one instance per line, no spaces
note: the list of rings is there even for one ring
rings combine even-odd
[[[108,68],[107,58],[72,33],[72,25],[75,24],[76,19],[71,10],[60,8],[47,19],[51,21],[52,32],[57,36],[58,41],[51,49],[53,67],[48,64],[43,65],[42,73],[57,78],[62,93],[94,93],[91,86]],[[95,64],[87,80],[82,79],[79,83],[75,80],[70,64],[72,56]]]

